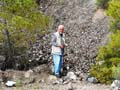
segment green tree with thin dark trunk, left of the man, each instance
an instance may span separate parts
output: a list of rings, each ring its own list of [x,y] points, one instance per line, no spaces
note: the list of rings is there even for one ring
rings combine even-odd
[[[49,24],[50,17],[38,10],[35,0],[0,0],[0,43],[8,62],[24,53]]]

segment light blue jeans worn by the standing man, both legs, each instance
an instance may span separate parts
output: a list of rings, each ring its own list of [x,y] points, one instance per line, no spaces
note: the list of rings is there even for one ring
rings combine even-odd
[[[56,76],[60,75],[60,70],[62,68],[63,55],[53,54],[53,63],[54,63],[54,74]]]

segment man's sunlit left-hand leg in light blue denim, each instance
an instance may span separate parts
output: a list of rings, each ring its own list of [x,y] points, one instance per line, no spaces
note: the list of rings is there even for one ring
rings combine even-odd
[[[54,62],[54,73],[56,76],[59,76],[60,74],[60,61],[61,61],[61,56],[60,55],[53,55],[53,62]]]

